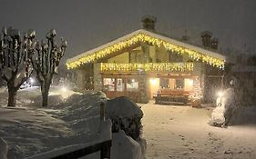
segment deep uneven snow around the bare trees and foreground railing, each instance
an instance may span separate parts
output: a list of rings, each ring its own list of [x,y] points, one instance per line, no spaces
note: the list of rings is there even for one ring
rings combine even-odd
[[[73,145],[67,147],[70,150],[82,144],[89,145],[101,142],[105,137],[106,140],[111,137],[111,134],[108,138],[102,134],[102,130],[100,131],[100,128],[106,126],[108,128],[104,128],[104,131],[110,131],[111,126],[108,121],[107,125],[100,122],[99,102],[108,100],[103,93],[77,94],[61,87],[52,87],[47,108],[40,106],[39,87],[19,90],[17,107],[6,107],[5,88],[0,89],[0,97],[0,137],[8,144],[8,159],[22,159]],[[107,114],[111,112],[115,102],[111,104],[109,109],[107,104]],[[129,105],[126,105],[127,112],[135,112],[133,106],[130,111],[128,107]],[[53,154],[60,152],[56,151]],[[122,131],[113,134],[111,154],[114,159],[120,158],[123,154],[126,154],[126,157],[122,157],[124,159],[142,159],[144,151],[143,141],[134,141]],[[39,158],[49,158],[48,154],[44,156]],[[99,158],[99,153],[84,158]]]

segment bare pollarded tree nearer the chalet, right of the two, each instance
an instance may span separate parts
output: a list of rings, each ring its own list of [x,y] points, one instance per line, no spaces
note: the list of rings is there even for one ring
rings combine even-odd
[[[53,75],[58,73],[58,65],[61,57],[64,55],[67,41],[61,38],[60,46],[55,41],[56,30],[52,29],[46,34],[46,42],[36,43],[36,57],[32,61],[36,71],[36,79],[41,84],[42,106],[48,104],[49,88],[52,84]]]

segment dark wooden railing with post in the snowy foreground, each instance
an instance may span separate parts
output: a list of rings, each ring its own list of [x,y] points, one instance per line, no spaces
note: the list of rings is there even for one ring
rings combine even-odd
[[[108,120],[110,122],[110,120]],[[106,126],[104,126],[105,121],[105,104],[100,104],[100,128],[99,131],[102,132],[102,129],[105,129]],[[111,129],[111,125],[109,127]],[[106,131],[106,130],[105,130]],[[111,136],[111,130],[108,131]],[[106,134],[103,134],[106,135]],[[28,157],[26,159],[77,159],[83,156],[86,156],[88,154],[93,154],[98,151],[100,151],[100,159],[109,159],[110,158],[110,148],[112,145],[112,139],[105,139],[106,137],[103,137],[104,141],[100,142],[94,142],[90,144],[77,144],[77,145],[71,145],[64,148],[60,148],[54,151],[46,152],[43,154],[36,154],[31,157]]]

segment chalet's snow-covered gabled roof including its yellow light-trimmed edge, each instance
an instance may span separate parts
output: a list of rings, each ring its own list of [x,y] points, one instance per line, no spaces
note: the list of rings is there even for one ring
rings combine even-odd
[[[226,57],[219,53],[203,49],[199,46],[189,45],[144,29],[139,29],[105,45],[100,45],[94,49],[88,50],[87,52],[67,59],[67,68],[73,69],[80,65],[97,61],[97,59],[115,53],[116,51],[127,48],[131,45],[135,45],[138,42],[148,42],[151,45],[164,46],[167,50],[175,51],[178,54],[188,54],[194,59],[200,59],[203,62],[220,68],[223,68],[226,60]]]

